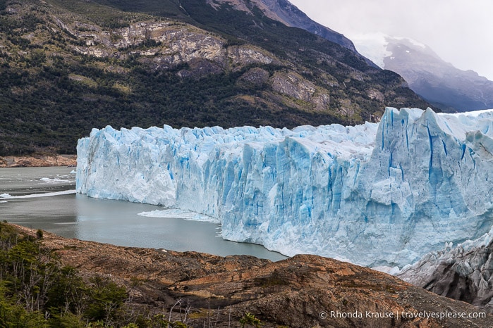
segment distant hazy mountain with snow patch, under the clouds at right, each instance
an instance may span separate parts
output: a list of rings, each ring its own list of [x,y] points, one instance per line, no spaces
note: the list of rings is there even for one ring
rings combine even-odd
[[[364,56],[404,77],[410,89],[448,112],[493,108],[493,81],[473,70],[459,70],[429,46],[403,37],[365,34],[353,38]]]

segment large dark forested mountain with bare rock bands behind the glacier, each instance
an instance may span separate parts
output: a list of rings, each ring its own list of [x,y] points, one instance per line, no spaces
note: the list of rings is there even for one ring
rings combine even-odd
[[[75,153],[106,125],[355,124],[428,105],[340,34],[236,2],[0,1],[0,156]]]

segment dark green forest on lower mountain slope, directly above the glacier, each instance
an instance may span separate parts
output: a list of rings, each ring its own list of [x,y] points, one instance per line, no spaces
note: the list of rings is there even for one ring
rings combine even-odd
[[[20,155],[52,147],[59,153],[73,153],[77,139],[92,127],[173,127],[220,125],[274,125],[294,127],[301,123],[343,122],[331,113],[307,112],[296,108],[269,108],[265,103],[238,101],[238,95],[259,99],[269,87],[243,87],[235,81],[245,70],[208,75],[200,80],[180,78],[177,67],[165,72],[149,72],[129,59],[127,75],[116,75],[95,68],[95,58],[84,58],[87,65],[70,65],[62,58],[51,58],[38,72],[26,74],[18,68],[0,71],[0,156]],[[100,61],[99,61],[100,62]],[[84,82],[70,75],[91,77]],[[29,89],[22,89],[23,85]],[[129,85],[125,92],[117,85]],[[279,108],[279,106],[277,106]]]

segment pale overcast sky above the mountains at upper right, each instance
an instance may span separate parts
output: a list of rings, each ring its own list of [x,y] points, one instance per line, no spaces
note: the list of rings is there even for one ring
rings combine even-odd
[[[444,61],[493,80],[492,0],[289,0],[312,20],[351,34],[384,32],[430,46]]]

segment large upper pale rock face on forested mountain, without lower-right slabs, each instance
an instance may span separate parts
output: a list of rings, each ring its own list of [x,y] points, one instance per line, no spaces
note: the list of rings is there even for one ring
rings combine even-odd
[[[126,58],[129,54],[149,56],[154,68],[190,63],[198,59],[218,65],[221,72],[252,63],[281,63],[272,53],[255,46],[229,46],[226,40],[204,30],[178,23],[135,23],[112,31],[91,30],[80,32],[58,20],[61,28],[84,40],[85,46],[74,50],[86,55]],[[82,27],[81,27],[82,29]],[[133,50],[137,46],[147,49]],[[218,72],[212,72],[218,73]]]

